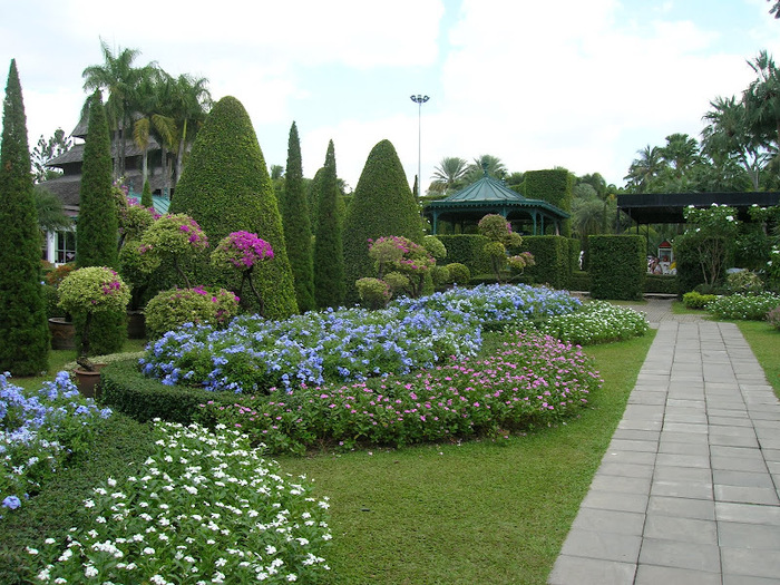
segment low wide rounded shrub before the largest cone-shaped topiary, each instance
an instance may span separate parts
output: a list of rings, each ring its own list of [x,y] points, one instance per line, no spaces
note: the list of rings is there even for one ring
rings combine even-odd
[[[146,334],[158,339],[185,323],[226,325],[238,313],[238,298],[225,289],[172,289],[152,299],[144,313]]]

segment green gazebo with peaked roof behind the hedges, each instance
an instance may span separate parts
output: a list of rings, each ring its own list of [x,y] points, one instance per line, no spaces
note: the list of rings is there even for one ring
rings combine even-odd
[[[565,211],[540,199],[528,199],[507,187],[503,182],[484,176],[468,187],[447,198],[426,205],[423,216],[431,222],[432,233],[439,233],[441,222],[451,224],[464,233],[468,225],[476,225],[488,214],[506,217],[513,231],[526,235],[544,235],[552,230],[560,235],[560,223],[569,217]]]

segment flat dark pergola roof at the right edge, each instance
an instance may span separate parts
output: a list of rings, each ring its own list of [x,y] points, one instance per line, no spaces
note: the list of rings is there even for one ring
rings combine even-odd
[[[641,195],[618,195],[617,208],[640,225],[685,223],[685,207],[710,207],[728,205],[734,207],[740,221],[750,221],[748,209],[771,207],[780,204],[778,192],[749,193],[643,193]]]

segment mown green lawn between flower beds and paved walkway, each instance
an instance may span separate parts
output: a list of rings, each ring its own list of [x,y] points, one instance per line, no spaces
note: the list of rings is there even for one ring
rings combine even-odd
[[[653,335],[586,350],[604,387],[565,425],[496,441],[279,458],[331,497],[333,583],[545,583]]]

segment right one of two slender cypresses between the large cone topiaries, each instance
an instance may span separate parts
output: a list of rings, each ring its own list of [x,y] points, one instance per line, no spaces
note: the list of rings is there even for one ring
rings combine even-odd
[[[314,241],[314,299],[316,306],[337,308],[344,303],[343,217],[339,206],[335,148],[328,144],[319,193],[316,240]]]

